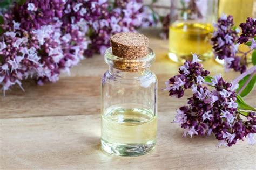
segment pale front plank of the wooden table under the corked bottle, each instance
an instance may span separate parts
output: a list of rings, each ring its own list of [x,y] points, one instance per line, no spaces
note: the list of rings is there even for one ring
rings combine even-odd
[[[173,109],[171,109],[173,110]],[[255,147],[239,142],[217,148],[213,136],[182,138],[159,112],[156,150],[138,158],[112,157],[99,150],[99,114],[1,119],[2,169],[206,169],[255,168]]]

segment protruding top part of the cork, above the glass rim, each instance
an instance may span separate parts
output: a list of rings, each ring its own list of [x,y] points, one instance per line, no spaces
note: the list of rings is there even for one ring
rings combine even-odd
[[[110,38],[113,55],[124,59],[136,59],[148,53],[149,39],[139,33],[122,32]]]

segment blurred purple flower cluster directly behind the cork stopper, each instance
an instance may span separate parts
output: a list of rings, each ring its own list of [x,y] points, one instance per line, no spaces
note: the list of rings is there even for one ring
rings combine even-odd
[[[154,24],[152,13],[142,1],[119,1],[112,5],[106,1],[102,3],[85,2],[86,6],[93,6],[87,10],[90,34],[92,41],[88,53],[100,52],[103,54],[110,46],[110,37],[118,32],[136,31],[138,27]],[[109,10],[111,8],[112,10]],[[97,13],[97,15],[95,15]]]

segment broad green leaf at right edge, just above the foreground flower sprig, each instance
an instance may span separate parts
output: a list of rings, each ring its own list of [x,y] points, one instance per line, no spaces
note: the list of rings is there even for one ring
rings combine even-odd
[[[238,82],[239,84],[239,88],[237,89],[237,93],[238,91],[240,91],[240,89],[244,86],[244,84],[246,83],[246,81],[249,79],[249,77],[251,76],[251,74],[248,74],[247,76],[244,77],[244,79],[240,80]],[[256,83],[256,75],[254,75],[252,77],[252,79],[250,80],[250,82],[247,84],[247,86],[245,87],[244,90],[241,91],[241,93],[239,94],[241,97],[244,97],[246,95],[248,95],[252,89],[254,88],[254,85]]]

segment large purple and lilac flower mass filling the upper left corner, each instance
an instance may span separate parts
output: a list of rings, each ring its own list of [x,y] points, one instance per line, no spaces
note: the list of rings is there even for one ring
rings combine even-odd
[[[69,68],[83,59],[90,41],[83,27],[66,29],[64,5],[63,1],[26,1],[4,14],[5,32],[0,37],[0,84],[4,94],[14,84],[21,86],[28,77],[34,77],[40,85],[56,82],[61,70],[69,73]]]

